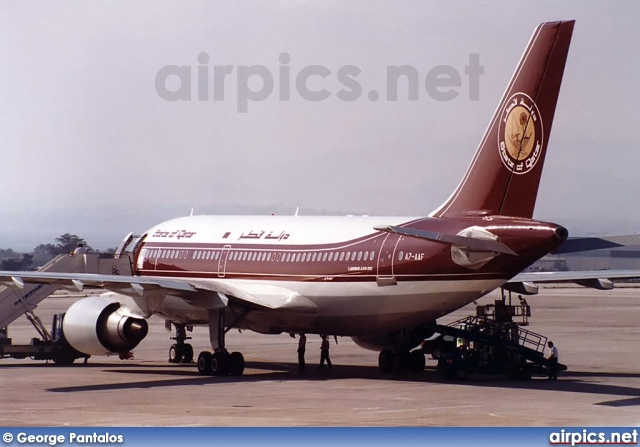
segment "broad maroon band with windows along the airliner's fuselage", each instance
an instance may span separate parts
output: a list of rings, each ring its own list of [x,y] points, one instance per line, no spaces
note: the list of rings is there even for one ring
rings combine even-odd
[[[535,221],[527,224],[541,226]],[[548,237],[547,224],[542,224],[542,229],[547,230],[544,236]],[[514,262],[513,257],[498,256],[478,270],[454,263],[448,245],[372,233],[350,241],[314,245],[146,242],[138,252],[143,262],[136,262],[139,267],[136,273],[276,281],[362,282],[384,277],[403,281],[508,279],[537,259],[541,250],[546,250],[537,247],[531,257],[527,256],[527,247],[534,246],[540,237],[533,237],[530,229],[509,230],[505,226],[502,231],[498,228],[498,233],[502,232],[501,240],[514,249],[522,248],[521,259]]]

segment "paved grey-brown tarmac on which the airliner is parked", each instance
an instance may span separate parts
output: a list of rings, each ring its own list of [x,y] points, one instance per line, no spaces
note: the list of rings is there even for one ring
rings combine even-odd
[[[494,292],[478,304],[498,297]],[[36,314],[49,326],[76,299],[48,298]],[[236,330],[227,347],[244,354],[244,375],[201,376],[195,364],[167,362],[173,334],[152,318],[131,360],[92,357],[87,365],[58,367],[0,359],[0,425],[638,426],[640,288],[541,288],[528,301],[527,329],[553,340],[569,367],[557,382],[490,375],[450,382],[430,358],[422,374],[385,374],[376,352],[348,338],[332,339],[333,369],[320,370],[320,337],[313,335],[307,368],[299,371],[297,339]],[[473,314],[467,306],[439,323]],[[9,327],[14,343],[35,335],[23,317]],[[190,335],[196,356],[210,350],[206,328]]]

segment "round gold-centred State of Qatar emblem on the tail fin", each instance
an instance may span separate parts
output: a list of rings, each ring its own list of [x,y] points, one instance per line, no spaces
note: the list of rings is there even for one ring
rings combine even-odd
[[[536,103],[524,93],[515,93],[506,102],[498,128],[500,158],[514,174],[526,174],[540,159],[542,118]]]

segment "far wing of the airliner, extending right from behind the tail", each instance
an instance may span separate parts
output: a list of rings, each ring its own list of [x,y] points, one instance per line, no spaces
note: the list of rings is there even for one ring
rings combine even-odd
[[[524,272],[511,278],[504,289],[512,292],[535,295],[538,283],[572,282],[599,290],[613,288],[612,279],[640,278],[640,270],[590,270],[567,272]]]

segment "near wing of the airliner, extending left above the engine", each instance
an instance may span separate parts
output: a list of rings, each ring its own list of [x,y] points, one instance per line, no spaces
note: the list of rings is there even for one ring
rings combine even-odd
[[[222,302],[232,301],[252,309],[317,312],[318,307],[306,297],[285,287],[270,284],[234,283],[218,279],[180,279],[145,276],[99,275],[89,273],[10,272],[0,271],[0,284],[23,289],[25,284],[51,284],[58,288],[82,291],[100,288],[132,297],[158,292],[178,296],[193,305],[207,307],[207,295],[217,294]],[[216,300],[220,303],[220,300]]]

